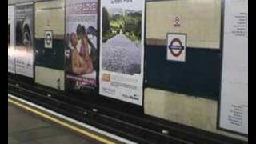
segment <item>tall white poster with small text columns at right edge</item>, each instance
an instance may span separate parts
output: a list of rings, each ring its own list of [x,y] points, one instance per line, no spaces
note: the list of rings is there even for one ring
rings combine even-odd
[[[248,0],[226,0],[219,127],[248,134]]]

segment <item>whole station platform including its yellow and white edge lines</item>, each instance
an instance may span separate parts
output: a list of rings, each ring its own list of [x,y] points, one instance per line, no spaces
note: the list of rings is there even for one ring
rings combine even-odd
[[[126,142],[122,138],[118,141],[118,138],[94,128],[85,129],[75,126],[70,122],[54,118],[54,115],[38,110],[34,106],[8,98],[9,144],[134,143]]]

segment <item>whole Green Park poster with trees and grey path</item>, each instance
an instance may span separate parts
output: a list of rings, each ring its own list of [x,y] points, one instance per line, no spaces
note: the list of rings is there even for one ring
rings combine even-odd
[[[142,0],[101,2],[100,94],[142,106]]]

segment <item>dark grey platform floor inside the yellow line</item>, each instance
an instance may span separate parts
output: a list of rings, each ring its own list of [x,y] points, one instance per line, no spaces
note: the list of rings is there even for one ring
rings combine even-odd
[[[98,144],[53,122],[8,104],[9,144]]]

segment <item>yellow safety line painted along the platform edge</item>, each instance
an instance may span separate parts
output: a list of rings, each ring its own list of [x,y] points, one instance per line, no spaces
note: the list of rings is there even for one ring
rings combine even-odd
[[[40,115],[40,116],[42,116],[44,118],[50,119],[51,121],[56,122],[56,123],[58,123],[58,124],[60,124],[62,126],[66,126],[66,127],[70,128],[71,130],[77,131],[80,134],[84,134],[84,135],[86,135],[86,136],[88,136],[90,138],[94,138],[94,139],[96,139],[96,140],[98,140],[100,142],[104,142],[104,143],[107,143],[107,144],[114,144],[114,142],[111,142],[111,141],[109,141],[109,140],[107,140],[105,138],[98,137],[97,135],[91,134],[90,132],[88,132],[86,130],[82,130],[82,129],[78,128],[78,127],[71,126],[70,124],[68,124],[66,122],[62,122],[62,121],[60,121],[60,120],[58,120],[56,118],[52,118],[52,117],[50,117],[47,114],[43,114],[43,113],[39,112],[38,110],[34,110],[34,109],[32,109],[32,108],[30,108],[28,106],[22,105],[22,104],[20,104],[18,102],[14,102],[14,100],[11,100],[10,98],[8,98],[8,102],[11,102],[14,105],[17,105],[17,106],[20,106],[20,107],[22,107],[22,108],[24,108],[26,110],[29,110],[30,112],[32,112],[34,114],[38,114],[38,115]]]

